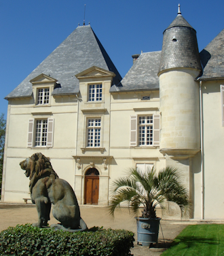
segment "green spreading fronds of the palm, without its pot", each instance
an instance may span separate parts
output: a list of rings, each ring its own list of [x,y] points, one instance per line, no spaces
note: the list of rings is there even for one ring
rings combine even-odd
[[[189,197],[180,177],[181,173],[175,167],[166,167],[158,174],[154,167],[146,172],[133,168],[128,170],[126,177],[114,180],[111,185],[110,214],[113,216],[115,208],[122,202],[127,202],[135,215],[143,204],[144,217],[156,217],[155,207],[163,207],[167,201],[175,202],[184,212],[185,206],[189,205]]]

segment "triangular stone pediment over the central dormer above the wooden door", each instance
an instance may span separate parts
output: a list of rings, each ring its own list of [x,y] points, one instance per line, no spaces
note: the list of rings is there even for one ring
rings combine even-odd
[[[112,71],[102,69],[101,67],[90,67],[84,71],[81,71],[79,74],[76,74],[77,79],[81,78],[102,78],[102,77],[114,77],[115,74]]]

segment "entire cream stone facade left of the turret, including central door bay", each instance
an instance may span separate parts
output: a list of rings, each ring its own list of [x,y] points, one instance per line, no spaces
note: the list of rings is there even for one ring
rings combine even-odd
[[[22,174],[19,163],[37,152],[50,157],[58,176],[75,190],[79,204],[85,202],[85,174],[92,167],[100,174],[98,205],[101,206],[109,204],[111,182],[124,176],[128,168],[139,163],[155,165],[157,170],[164,167],[160,145],[130,146],[130,116],[160,115],[159,91],[111,95],[111,81],[112,76],[91,73],[89,78],[86,74],[79,78],[79,99],[75,95],[51,97],[50,106],[36,106],[34,98],[9,102],[3,178],[5,202],[23,202],[22,198],[29,198],[29,179]],[[89,102],[88,85],[100,82],[102,101]],[[150,100],[142,100],[143,95],[150,95]],[[53,146],[28,147],[29,119],[42,117],[54,118]],[[100,148],[86,146],[88,118],[101,118]],[[16,182],[15,176],[20,182]]]

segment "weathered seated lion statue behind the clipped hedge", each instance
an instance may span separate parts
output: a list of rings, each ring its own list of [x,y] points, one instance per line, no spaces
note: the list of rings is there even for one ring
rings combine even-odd
[[[80,217],[79,204],[72,187],[54,172],[50,160],[41,153],[35,153],[20,163],[26,177],[29,177],[31,199],[36,204],[38,222],[35,227],[45,227],[52,213],[60,224],[53,224],[55,229],[65,231],[85,231],[86,223]]]

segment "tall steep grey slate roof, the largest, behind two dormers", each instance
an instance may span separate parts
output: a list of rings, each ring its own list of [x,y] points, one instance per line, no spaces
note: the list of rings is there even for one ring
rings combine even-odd
[[[122,80],[90,25],[77,27],[5,99],[31,97],[33,89],[29,81],[39,76],[39,74],[50,75],[58,80],[59,86],[54,89],[52,95],[79,93],[79,80],[75,75],[92,66],[113,71],[116,74],[115,78],[113,78],[114,84],[119,84]]]

